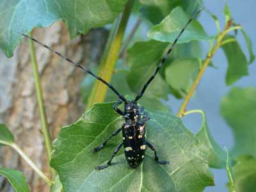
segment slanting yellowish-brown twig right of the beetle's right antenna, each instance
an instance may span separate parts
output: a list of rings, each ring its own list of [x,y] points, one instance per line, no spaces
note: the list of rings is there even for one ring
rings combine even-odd
[[[209,65],[209,63],[212,59],[212,56],[214,56],[215,52],[221,47],[221,44],[222,44],[222,41],[223,41],[223,38],[225,37],[225,35],[228,32],[230,32],[232,30],[236,30],[237,27],[239,27],[239,26],[236,26],[236,27],[230,28],[230,26],[232,26],[232,21],[228,21],[227,24],[225,25],[224,30],[218,34],[218,36],[216,38],[216,44],[208,52],[206,60],[204,61],[202,68],[200,68],[200,71],[198,72],[198,75],[196,76],[194,83],[192,84],[191,88],[189,89],[188,95],[186,95],[184,102],[180,106],[177,116],[179,116],[179,117],[184,116],[184,113],[186,112],[186,107],[188,106],[189,100],[193,96],[193,93],[195,92],[196,87],[198,86],[198,83],[200,82],[200,80],[205,72],[205,69],[207,68],[207,66]]]

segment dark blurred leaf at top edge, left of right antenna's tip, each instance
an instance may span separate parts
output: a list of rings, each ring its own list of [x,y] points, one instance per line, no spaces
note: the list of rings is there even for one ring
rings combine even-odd
[[[195,12],[198,7],[196,1],[187,0],[139,0],[141,3],[141,14],[152,24],[158,24],[168,15],[175,6],[182,6],[189,14]]]

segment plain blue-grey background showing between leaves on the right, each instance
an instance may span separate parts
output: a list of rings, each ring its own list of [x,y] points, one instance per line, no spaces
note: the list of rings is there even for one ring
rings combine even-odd
[[[204,1],[205,7],[211,10],[212,13],[217,15],[222,21],[223,26],[223,8],[225,6],[226,1],[216,0],[216,1]],[[230,6],[230,12],[232,13],[232,17],[236,20],[237,23],[241,24],[250,36],[252,40],[253,52],[256,52],[256,26],[253,24],[253,8],[256,6],[256,1],[248,0],[248,1],[239,1],[239,0],[230,0],[227,1]],[[212,23],[212,19],[209,15],[202,13],[200,16],[200,22],[202,26],[204,26],[205,31],[207,33],[214,35],[216,33],[216,28]],[[246,42],[242,35],[237,37],[237,40],[240,42],[241,48],[245,52],[248,57],[248,51]],[[204,54],[205,51],[209,49],[208,45],[203,45]],[[203,55],[204,55],[203,54]],[[221,146],[225,146],[227,148],[231,148],[234,143],[233,135],[230,127],[228,127],[224,118],[220,114],[220,102],[224,95],[227,95],[228,91],[232,86],[225,85],[225,73],[227,71],[227,59],[225,58],[225,54],[221,49],[219,49],[212,59],[214,65],[218,68],[208,67],[204,77],[202,77],[202,81],[200,82],[196,95],[193,99],[190,100],[188,109],[202,109],[205,111],[207,116],[207,122],[209,125],[209,129],[211,130],[211,134],[214,139]],[[237,81],[234,86],[240,87],[248,87],[253,86],[256,87],[256,62],[254,61],[252,65],[248,66],[249,76],[243,77],[239,81]],[[255,95],[256,96],[256,95]],[[180,107],[182,100],[177,100],[175,97],[170,97],[170,101],[166,102],[173,111],[177,111]],[[196,133],[200,128],[201,124],[201,116],[199,114],[192,114],[184,117],[184,123],[194,132]],[[215,185],[214,187],[208,187],[205,189],[205,192],[218,192],[218,191],[227,191],[225,185],[228,182],[227,174],[225,170],[215,170],[212,169],[215,177]]]

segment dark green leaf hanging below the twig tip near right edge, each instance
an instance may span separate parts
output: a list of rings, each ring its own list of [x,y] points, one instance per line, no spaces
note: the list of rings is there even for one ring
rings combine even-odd
[[[234,38],[234,36],[227,35],[224,40],[229,38]],[[237,41],[224,44],[221,47],[228,60],[226,74],[226,84],[228,86],[241,79],[241,77],[248,76],[247,60]]]

